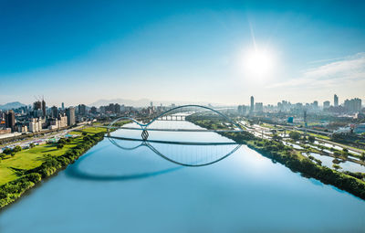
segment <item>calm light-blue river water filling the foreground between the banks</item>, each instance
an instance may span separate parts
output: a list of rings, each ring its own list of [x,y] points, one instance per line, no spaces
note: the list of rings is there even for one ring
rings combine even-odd
[[[159,140],[230,142],[214,132],[150,134]],[[365,232],[364,201],[245,146],[218,163],[187,167],[138,142],[115,143],[120,147],[105,139],[5,208],[0,232]],[[235,149],[151,146],[190,164],[214,161]]]

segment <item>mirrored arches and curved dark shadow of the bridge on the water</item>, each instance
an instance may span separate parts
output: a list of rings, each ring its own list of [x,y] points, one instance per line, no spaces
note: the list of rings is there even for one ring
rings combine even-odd
[[[140,139],[113,136],[107,138],[110,140],[110,143],[120,148],[121,151],[134,151],[141,148],[148,148],[151,152],[153,152],[153,154],[175,164],[175,166],[151,172],[131,172],[126,175],[97,175],[93,172],[85,172],[80,168],[82,162],[90,155],[87,154],[86,156],[80,157],[77,163],[68,168],[67,175],[73,178],[93,181],[127,181],[142,179],[171,173],[182,169],[183,167],[201,167],[215,164],[224,160],[224,158],[227,158],[231,154],[235,154],[235,152],[241,147],[241,144],[237,143],[189,143],[157,140],[144,141]],[[130,142],[134,143],[131,144]],[[91,152],[91,154],[95,152]]]

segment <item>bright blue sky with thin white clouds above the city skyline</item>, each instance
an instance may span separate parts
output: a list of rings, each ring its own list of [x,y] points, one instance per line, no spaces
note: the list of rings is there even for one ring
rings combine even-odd
[[[364,1],[257,2],[0,0],[0,104],[365,101]]]

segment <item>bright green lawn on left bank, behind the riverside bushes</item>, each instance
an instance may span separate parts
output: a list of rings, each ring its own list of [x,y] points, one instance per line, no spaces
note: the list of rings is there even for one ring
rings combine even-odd
[[[106,132],[105,128],[88,127],[81,130],[87,133]],[[82,132],[70,132],[70,134],[81,135]],[[59,156],[65,154],[68,150],[82,143],[81,137],[72,139],[71,143],[67,143],[62,149],[57,149],[56,144],[36,145],[31,149],[22,150],[14,156],[7,155],[5,159],[0,160],[0,185],[13,181],[17,178],[16,171],[12,168],[29,170],[41,165],[45,156]]]

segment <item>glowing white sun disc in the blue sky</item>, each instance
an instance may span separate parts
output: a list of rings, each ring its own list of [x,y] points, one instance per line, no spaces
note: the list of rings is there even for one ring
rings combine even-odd
[[[255,77],[266,77],[274,69],[274,58],[268,50],[255,48],[245,53],[245,71]]]

